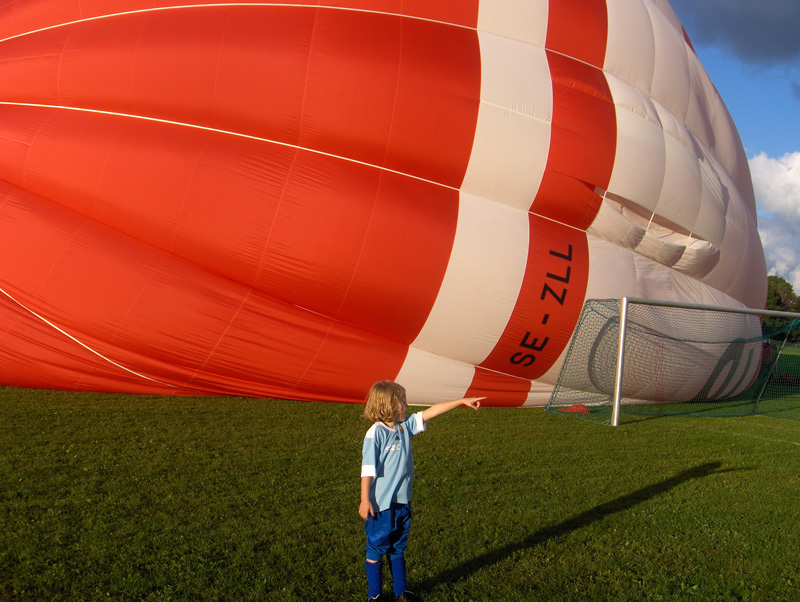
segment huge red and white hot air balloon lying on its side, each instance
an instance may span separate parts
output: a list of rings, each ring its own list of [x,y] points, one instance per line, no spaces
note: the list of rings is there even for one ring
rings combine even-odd
[[[12,2],[0,58],[4,384],[535,405],[587,298],[764,306],[666,0]]]

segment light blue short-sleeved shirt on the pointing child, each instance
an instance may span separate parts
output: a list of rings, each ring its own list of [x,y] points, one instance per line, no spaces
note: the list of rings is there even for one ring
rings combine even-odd
[[[422,412],[417,412],[394,428],[376,422],[367,431],[361,454],[361,476],[374,477],[369,494],[377,512],[387,510],[392,504],[411,501],[414,485],[411,437],[424,430]]]

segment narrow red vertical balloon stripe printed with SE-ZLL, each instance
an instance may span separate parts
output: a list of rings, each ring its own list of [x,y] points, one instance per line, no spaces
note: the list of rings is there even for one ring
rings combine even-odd
[[[602,201],[596,189],[607,187],[614,164],[614,105],[595,67],[603,64],[606,36],[605,0],[550,2],[552,133],[531,207],[537,215],[530,216],[527,268],[506,329],[476,369],[468,395],[506,391],[508,403],[524,403],[529,381],[553,365],[572,335],[589,274],[588,244],[580,230],[594,219]]]

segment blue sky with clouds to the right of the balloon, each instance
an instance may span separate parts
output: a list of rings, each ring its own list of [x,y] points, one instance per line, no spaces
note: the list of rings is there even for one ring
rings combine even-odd
[[[767,270],[800,294],[800,0],[671,0],[733,116]]]

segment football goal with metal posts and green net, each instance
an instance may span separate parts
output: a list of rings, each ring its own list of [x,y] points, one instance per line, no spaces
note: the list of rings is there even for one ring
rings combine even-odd
[[[590,299],[546,409],[800,420],[800,313]]]

